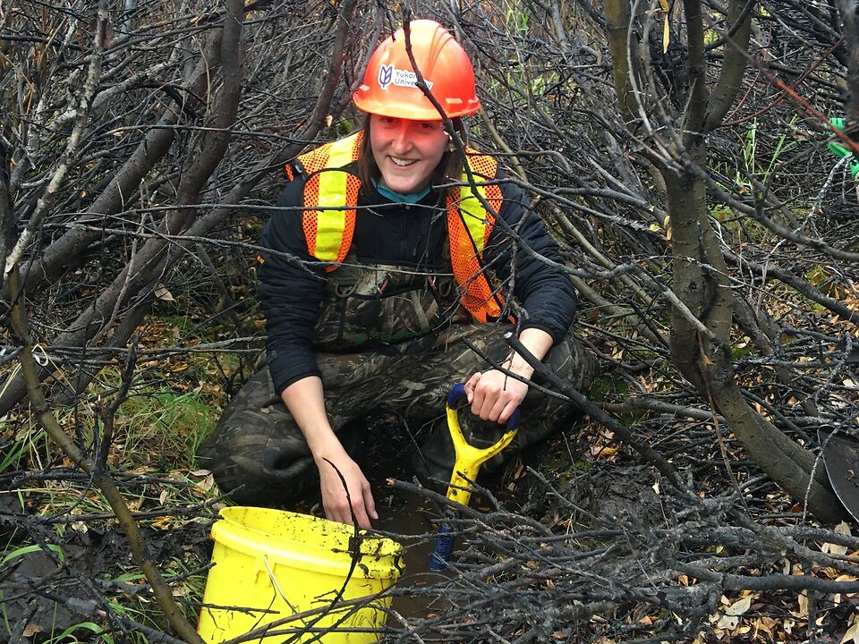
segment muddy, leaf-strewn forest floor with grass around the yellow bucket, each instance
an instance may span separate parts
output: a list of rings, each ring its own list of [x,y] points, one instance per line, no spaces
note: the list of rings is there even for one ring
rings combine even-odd
[[[176,365],[167,364],[165,368],[169,371]],[[185,369],[187,365],[173,373],[181,376]],[[196,623],[199,614],[211,556],[208,533],[218,510],[228,504],[218,496],[208,470],[198,467],[193,453],[216,422],[225,397],[223,389],[199,376],[175,377],[170,386],[141,386],[120,408],[123,432],[116,436],[108,459],[117,484],[140,521],[154,560],[191,623]],[[0,443],[4,446],[2,453],[6,454],[4,468],[0,468],[0,641],[152,641],[152,633],[164,628],[163,620],[146,580],[132,562],[123,534],[110,520],[106,503],[89,487],[87,479],[49,445],[38,428],[24,417],[17,419],[17,425],[10,420],[5,420],[4,433],[0,434],[4,441]],[[71,417],[67,420],[74,425]],[[402,431],[398,433],[397,423],[391,417],[373,419],[369,436],[374,437],[371,443],[376,447],[362,457],[365,469],[371,472],[382,514],[376,528],[397,538],[408,550],[407,571],[395,592],[395,610],[404,615],[410,630],[423,632],[424,641],[509,641],[489,637],[486,633],[492,631],[491,623],[470,628],[473,614],[451,616],[457,614],[455,608],[468,614],[469,602],[475,601],[468,593],[456,594],[481,576],[474,572],[476,564],[468,567],[468,558],[477,556],[475,553],[489,544],[483,555],[483,568],[492,562],[503,562],[505,556],[499,553],[507,546],[501,541],[493,552],[494,542],[472,533],[461,540],[454,558],[455,563],[463,562],[459,578],[448,575],[433,583],[426,576],[433,520],[442,515],[442,508],[431,494],[422,496],[420,491],[387,485],[389,477],[406,484],[412,480],[409,471],[400,466],[411,449],[412,439]],[[663,453],[675,454],[673,462],[681,473],[697,481],[694,489],[702,498],[729,493],[732,476],[737,480],[758,477],[753,464],[744,460],[730,436],[728,474],[726,459],[711,429],[701,428],[701,433],[695,434],[688,424],[667,426],[659,436],[651,436],[651,441]],[[10,454],[17,455],[11,458]],[[588,419],[576,420],[566,431],[508,462],[503,470],[481,478],[481,484],[486,493],[472,499],[472,507],[487,516],[500,516],[498,521],[510,521],[512,517],[519,521],[516,525],[526,528],[529,521],[537,521],[547,534],[581,539],[584,554],[576,557],[600,552],[605,555],[603,561],[610,563],[610,553],[619,541],[629,540],[634,530],[655,530],[674,522],[667,491],[660,488],[666,483],[660,482],[654,470],[638,462],[628,448],[618,444],[610,432]],[[312,496],[288,509],[321,514],[318,499]],[[804,522],[801,509],[766,481],[756,484],[754,502],[747,511],[766,525],[785,527]],[[474,525],[482,525],[487,533],[496,530],[489,519],[485,524],[477,521]],[[618,530],[612,531],[613,527]],[[841,530],[849,534],[850,528],[845,525]],[[503,535],[504,530],[493,534]],[[859,556],[859,552],[846,547],[812,540],[808,547],[851,561]],[[709,547],[708,552],[713,556],[745,557],[749,560],[744,564],[746,572],[755,572],[755,553],[742,549],[728,552],[729,549]],[[532,556],[536,555],[528,555]],[[539,569],[541,563],[528,557],[522,569]],[[549,566],[539,584],[532,580],[527,583],[528,592],[536,593],[537,606],[540,602],[543,606],[554,602],[560,607],[567,606],[567,602],[569,606],[581,603],[581,597],[557,592],[566,577],[566,559],[560,555],[556,560],[549,555],[547,558],[555,567]],[[658,566],[655,559],[651,552],[636,553],[635,547],[630,547],[623,555],[618,551],[616,563],[626,568],[641,565],[651,574],[655,570],[651,566]],[[672,614],[664,608],[654,610],[654,606],[630,598],[621,601],[623,592],[617,586],[622,584],[608,576],[608,570],[594,568],[592,572],[595,579],[602,576],[598,587],[613,589],[617,602],[606,605],[603,614],[591,614],[577,622],[558,618],[547,627],[549,631],[538,631],[535,625],[532,640],[599,644],[639,640],[859,642],[855,623],[859,597],[853,594],[820,593],[810,600],[805,591],[726,593],[718,597],[715,605],[711,601],[702,608],[707,614],[703,619],[699,615],[693,631],[683,632],[685,615]],[[788,557],[784,558],[784,570],[768,572],[847,579],[834,570],[803,569]],[[585,580],[588,571],[576,573],[584,575],[581,579]],[[676,588],[695,584],[686,575],[672,574],[671,582]],[[489,589],[496,583],[494,577],[481,579]],[[497,579],[498,588],[510,583],[503,576]],[[522,578],[515,582],[519,584],[516,588],[523,588]],[[444,600],[442,607],[438,607],[439,599]],[[445,612],[447,616],[441,614]],[[504,626],[510,635],[527,632],[535,618],[523,609],[522,614],[513,617],[510,610],[487,617],[489,622],[494,619],[498,620],[498,628]],[[521,624],[511,625],[511,620]],[[431,623],[425,631],[421,631],[421,621]],[[400,628],[392,635],[397,641],[408,641],[409,629]],[[146,632],[149,635],[141,634]]]

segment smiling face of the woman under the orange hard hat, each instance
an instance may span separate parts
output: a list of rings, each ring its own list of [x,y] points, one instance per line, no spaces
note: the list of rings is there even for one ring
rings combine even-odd
[[[412,121],[370,114],[370,147],[379,181],[400,194],[419,192],[447,149],[447,132],[440,121]]]

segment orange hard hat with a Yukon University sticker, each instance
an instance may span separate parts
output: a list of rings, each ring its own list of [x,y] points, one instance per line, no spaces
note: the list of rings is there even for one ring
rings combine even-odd
[[[474,70],[463,47],[436,21],[416,20],[409,24],[414,62],[447,117],[477,112],[481,101],[474,92]],[[442,120],[417,86],[402,29],[373,52],[364,82],[353,100],[358,109],[370,114],[415,121]]]

